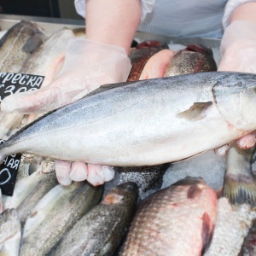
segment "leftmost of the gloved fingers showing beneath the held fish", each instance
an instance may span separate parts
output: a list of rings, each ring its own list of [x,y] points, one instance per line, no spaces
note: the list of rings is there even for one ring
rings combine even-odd
[[[70,178],[71,162],[55,160],[55,172],[58,182],[63,186],[69,186],[72,183]]]

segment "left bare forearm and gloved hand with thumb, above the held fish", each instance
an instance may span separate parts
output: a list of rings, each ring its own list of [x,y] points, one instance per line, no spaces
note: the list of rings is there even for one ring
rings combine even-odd
[[[125,81],[131,68],[127,53],[140,21],[140,1],[110,0],[107,4],[88,0],[86,3],[88,40],[70,41],[61,73],[53,82],[30,95],[20,93],[5,98],[1,104],[4,112],[48,112],[102,84]]]

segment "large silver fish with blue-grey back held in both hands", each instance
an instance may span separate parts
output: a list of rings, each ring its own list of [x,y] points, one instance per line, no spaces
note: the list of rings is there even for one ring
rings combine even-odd
[[[0,146],[108,166],[183,160],[256,130],[256,75],[193,73],[107,84]],[[125,146],[124,146],[125,145]]]

